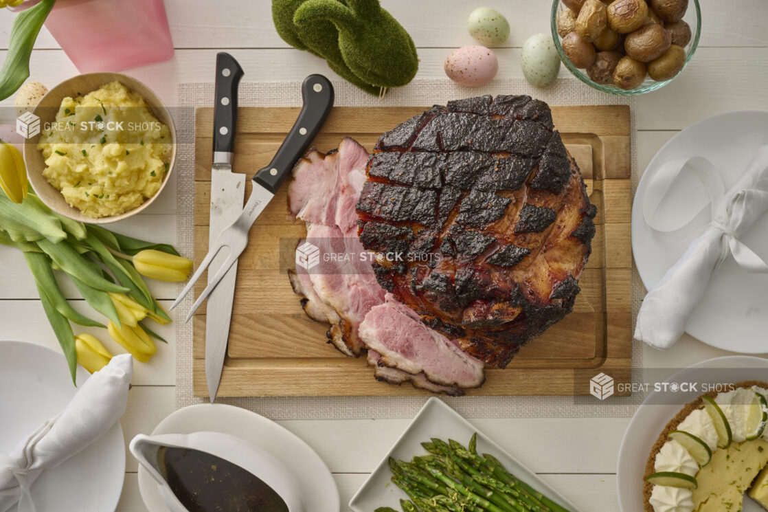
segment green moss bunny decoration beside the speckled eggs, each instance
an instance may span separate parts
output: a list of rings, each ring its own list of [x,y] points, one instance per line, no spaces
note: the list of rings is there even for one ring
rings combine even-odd
[[[371,94],[406,85],[419,68],[411,36],[378,0],[273,0],[272,17],[283,41]]]

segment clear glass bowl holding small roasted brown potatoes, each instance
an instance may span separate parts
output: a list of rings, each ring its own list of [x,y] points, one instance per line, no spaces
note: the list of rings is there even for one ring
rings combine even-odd
[[[646,76],[641,85],[634,89],[628,90],[618,88],[615,85],[598,84],[598,82],[589,78],[586,69],[579,69],[574,66],[571,61],[568,60],[568,57],[565,56],[565,52],[563,52],[563,46],[561,45],[562,38],[558,34],[558,14],[564,8],[566,8],[566,6],[561,2],[561,0],[554,0],[554,2],[552,2],[552,38],[554,39],[554,46],[558,48],[558,54],[560,54],[561,60],[563,61],[565,67],[568,68],[571,73],[576,76],[576,78],[583,81],[585,84],[598,89],[599,91],[608,92],[612,95],[641,95],[646,92],[655,91],[664,87],[664,85],[667,85],[670,83],[670,81],[673,81],[675,78],[677,78],[677,76],[680,75],[680,73],[683,72],[683,70],[687,67],[688,62],[690,62],[690,59],[693,58],[694,53],[696,52],[696,48],[699,45],[699,37],[701,35],[701,8],[699,7],[699,0],[690,0],[688,10],[683,17],[683,20],[684,22],[687,22],[688,25],[690,25],[690,32],[692,37],[690,38],[690,42],[688,42],[685,47],[685,52],[687,55],[685,64],[683,65],[683,68],[680,69],[680,71],[677,73],[677,75],[665,81],[655,81],[653,78]]]

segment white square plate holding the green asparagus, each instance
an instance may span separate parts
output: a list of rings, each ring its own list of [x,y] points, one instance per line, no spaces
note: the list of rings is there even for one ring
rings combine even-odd
[[[475,432],[478,434],[479,453],[492,454],[515,477],[571,512],[578,512],[574,504],[437,397],[431,397],[419,414],[416,414],[406,431],[349,501],[349,508],[354,512],[371,512],[377,507],[392,507],[400,510],[400,500],[407,500],[408,496],[390,480],[392,471],[389,470],[389,457],[411,460],[416,455],[425,455],[426,451],[421,444],[432,437],[444,440],[455,439],[466,445]]]

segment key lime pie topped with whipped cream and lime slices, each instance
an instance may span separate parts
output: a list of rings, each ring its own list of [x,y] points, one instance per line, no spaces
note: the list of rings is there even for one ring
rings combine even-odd
[[[704,394],[667,424],[645,467],[646,512],[768,510],[768,383]]]

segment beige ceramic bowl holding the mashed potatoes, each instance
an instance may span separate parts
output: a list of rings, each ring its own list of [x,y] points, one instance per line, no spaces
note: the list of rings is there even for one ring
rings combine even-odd
[[[38,194],[41,201],[47,204],[51,210],[64,215],[65,217],[74,219],[75,221],[81,221],[87,224],[108,224],[111,222],[122,221],[144,211],[162,193],[170,179],[171,173],[174,171],[174,164],[176,163],[177,136],[174,119],[171,117],[170,112],[161,99],[158,98],[150,88],[144,85],[141,81],[131,78],[130,76],[122,75],[121,73],[104,72],[88,73],[86,75],[78,75],[68,78],[48,91],[48,94],[43,96],[32,113],[40,118],[40,126],[45,127],[46,124],[50,125],[55,121],[56,113],[64,98],[68,96],[74,98],[78,95],[88,94],[88,92],[95,91],[103,85],[107,85],[113,81],[119,81],[131,91],[141,95],[141,97],[144,98],[144,101],[147,102],[147,106],[152,114],[159,121],[167,125],[168,131],[170,132],[170,162],[168,164],[168,171],[165,173],[163,184],[161,185],[160,190],[157,191],[157,194],[148,198],[138,208],[111,217],[92,218],[82,214],[80,210],[72,208],[67,204],[67,201],[65,201],[61,192],[48,183],[48,180],[43,176],[45,158],[43,158],[41,151],[37,148],[41,135],[35,135],[35,137],[29,138],[25,141],[24,145],[24,161],[27,166],[27,175],[32,188],[35,189],[35,194]]]

